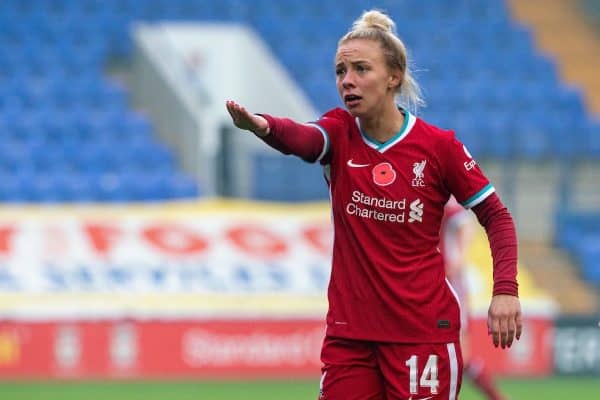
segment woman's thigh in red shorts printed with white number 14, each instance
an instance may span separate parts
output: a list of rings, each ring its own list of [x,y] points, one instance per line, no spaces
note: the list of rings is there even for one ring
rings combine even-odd
[[[460,344],[378,344],[377,360],[388,400],[458,399]]]

